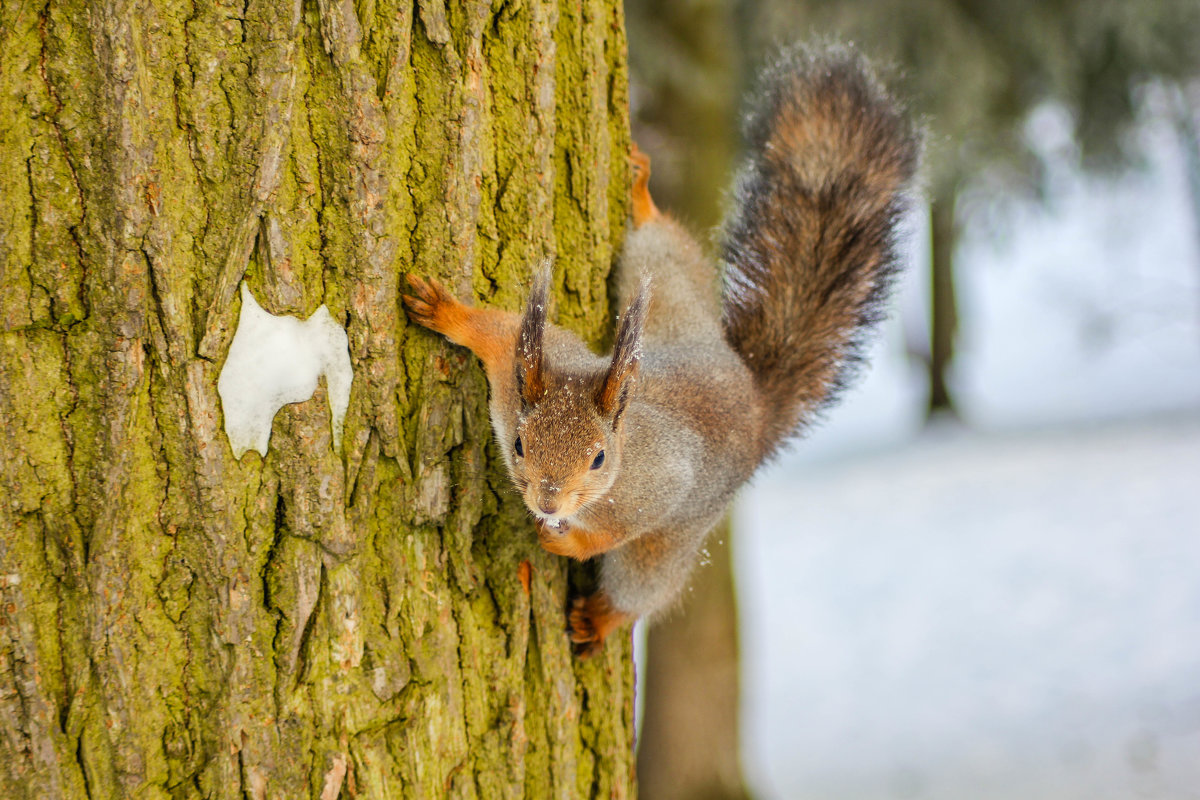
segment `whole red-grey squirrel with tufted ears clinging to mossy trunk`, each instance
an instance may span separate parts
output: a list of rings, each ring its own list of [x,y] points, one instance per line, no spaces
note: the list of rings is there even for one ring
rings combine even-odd
[[[611,356],[547,323],[548,269],[521,314],[407,278],[412,319],[482,361],[540,545],[602,558],[568,607],[582,656],[671,606],[734,493],[836,398],[883,315],[917,127],[848,47],[785,52],[758,85],[719,269],[655,206],[634,145]]]

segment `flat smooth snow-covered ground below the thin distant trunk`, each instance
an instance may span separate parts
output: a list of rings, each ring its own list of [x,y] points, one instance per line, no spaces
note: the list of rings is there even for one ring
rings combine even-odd
[[[763,796],[1200,798],[1200,415],[938,429],[738,523]]]

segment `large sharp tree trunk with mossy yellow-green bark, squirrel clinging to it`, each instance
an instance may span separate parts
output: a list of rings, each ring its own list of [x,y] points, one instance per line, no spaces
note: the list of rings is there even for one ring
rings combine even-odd
[[[0,796],[632,794],[629,642],[572,660],[484,374],[398,305],[554,257],[604,336],[620,4],[0,13]],[[318,389],[234,459],[242,279],[346,327],[340,441]]]

